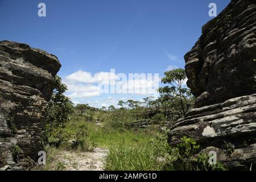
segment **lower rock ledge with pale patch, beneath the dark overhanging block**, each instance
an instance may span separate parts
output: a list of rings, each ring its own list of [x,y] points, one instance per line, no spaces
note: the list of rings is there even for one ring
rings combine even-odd
[[[256,94],[192,109],[171,127],[170,143],[175,145],[187,136],[200,143],[201,152],[216,151],[218,161],[230,169],[248,167],[256,162],[255,113]]]

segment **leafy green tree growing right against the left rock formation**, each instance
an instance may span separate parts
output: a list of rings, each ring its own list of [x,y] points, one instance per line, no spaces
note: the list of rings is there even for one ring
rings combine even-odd
[[[49,138],[61,140],[64,122],[71,118],[74,112],[73,103],[64,95],[67,86],[61,82],[59,76],[55,76],[53,82],[53,92],[51,100],[46,108],[46,126],[44,127],[44,144],[49,142]]]

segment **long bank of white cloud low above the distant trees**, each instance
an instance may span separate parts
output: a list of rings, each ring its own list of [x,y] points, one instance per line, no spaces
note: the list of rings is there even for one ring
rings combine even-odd
[[[159,81],[158,75],[135,74],[130,77],[123,73],[116,75],[114,70],[98,72],[93,76],[90,72],[80,70],[63,80],[68,86],[68,97],[71,98],[95,97],[101,93],[156,94]]]

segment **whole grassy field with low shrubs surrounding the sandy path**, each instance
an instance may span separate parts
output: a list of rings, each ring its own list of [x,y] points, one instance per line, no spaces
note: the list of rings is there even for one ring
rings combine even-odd
[[[63,170],[65,165],[57,161],[60,151],[93,151],[93,148],[107,148],[108,155],[104,169],[109,171],[151,171],[151,170],[208,170],[224,169],[221,165],[208,166],[208,158],[200,156],[191,162],[193,154],[200,148],[193,139],[183,138],[177,147],[170,147],[167,134],[160,133],[161,122],[144,129],[125,127],[126,123],[141,119],[142,114],[134,111],[99,112],[73,115],[59,132],[64,139],[60,146],[47,146],[47,165],[43,170]],[[56,138],[51,138],[54,141]],[[74,153],[73,153],[74,154]]]

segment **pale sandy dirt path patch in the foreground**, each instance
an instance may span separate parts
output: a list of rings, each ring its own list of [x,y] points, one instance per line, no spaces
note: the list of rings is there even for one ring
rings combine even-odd
[[[94,148],[93,152],[61,151],[58,162],[63,163],[65,171],[103,171],[107,149]]]

